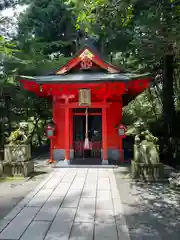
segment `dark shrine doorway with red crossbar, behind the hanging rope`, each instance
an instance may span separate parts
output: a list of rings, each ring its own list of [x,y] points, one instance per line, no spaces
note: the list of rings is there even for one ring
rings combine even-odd
[[[101,163],[102,148],[102,109],[88,108],[88,118],[86,123],[86,109],[73,109],[73,148],[74,158],[83,160],[84,163],[97,161]],[[86,124],[88,129],[89,150],[84,148]]]

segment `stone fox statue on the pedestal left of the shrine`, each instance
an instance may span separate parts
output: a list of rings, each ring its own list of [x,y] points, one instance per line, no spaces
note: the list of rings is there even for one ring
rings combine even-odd
[[[20,123],[19,128],[13,131],[9,137],[9,144],[23,144],[27,143],[28,137],[27,137],[27,130],[28,130],[28,124],[27,123]]]

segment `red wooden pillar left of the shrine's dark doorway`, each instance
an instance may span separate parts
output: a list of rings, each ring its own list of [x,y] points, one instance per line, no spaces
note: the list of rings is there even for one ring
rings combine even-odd
[[[65,107],[65,162],[70,164],[70,114],[69,107]]]

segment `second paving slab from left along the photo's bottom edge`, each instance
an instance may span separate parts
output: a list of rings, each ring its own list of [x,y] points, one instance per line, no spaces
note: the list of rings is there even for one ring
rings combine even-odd
[[[33,221],[20,240],[43,240],[50,222]]]

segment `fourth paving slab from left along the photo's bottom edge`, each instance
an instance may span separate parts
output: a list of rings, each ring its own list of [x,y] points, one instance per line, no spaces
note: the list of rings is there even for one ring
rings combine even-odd
[[[92,223],[75,223],[72,227],[70,240],[93,240],[93,229]]]

